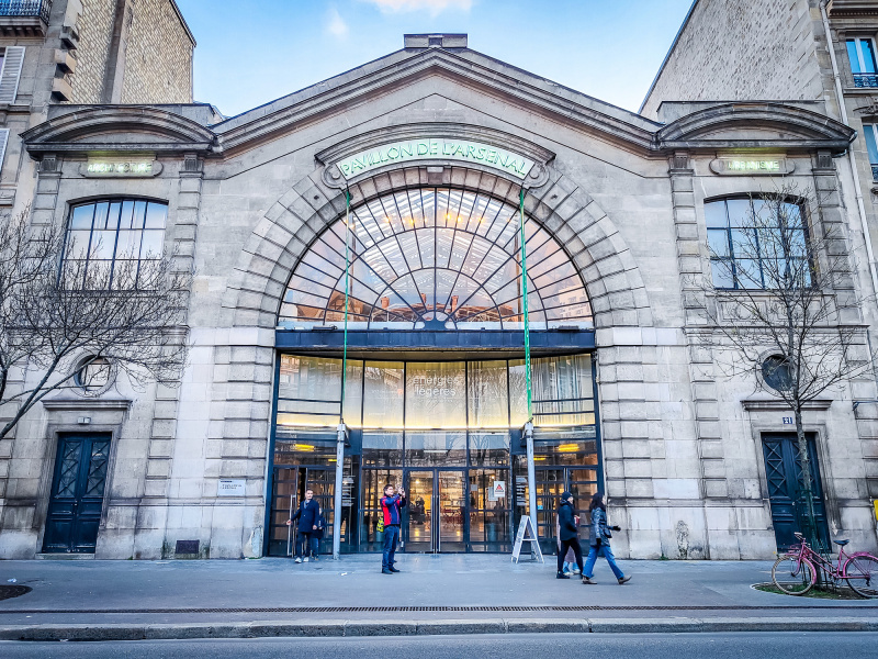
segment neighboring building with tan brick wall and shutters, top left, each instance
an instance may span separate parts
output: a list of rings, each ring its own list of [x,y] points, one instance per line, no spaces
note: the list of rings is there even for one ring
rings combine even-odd
[[[175,0],[0,0],[0,211],[33,199],[19,135],[58,103],[191,103]]]

